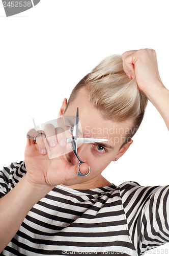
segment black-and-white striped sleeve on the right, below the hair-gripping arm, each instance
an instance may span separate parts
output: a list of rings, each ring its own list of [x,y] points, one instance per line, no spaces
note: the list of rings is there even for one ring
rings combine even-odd
[[[169,242],[169,185],[140,186],[130,182],[121,198],[132,243],[142,255]]]

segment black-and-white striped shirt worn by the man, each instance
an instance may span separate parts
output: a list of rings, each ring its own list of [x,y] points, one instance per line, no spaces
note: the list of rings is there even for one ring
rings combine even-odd
[[[3,167],[0,197],[25,173],[24,161]],[[131,181],[88,190],[58,185],[29,211],[1,255],[142,255],[169,242],[168,191]]]

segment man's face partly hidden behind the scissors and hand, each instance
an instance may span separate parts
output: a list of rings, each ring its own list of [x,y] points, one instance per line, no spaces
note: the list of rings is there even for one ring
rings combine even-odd
[[[126,133],[132,127],[133,120],[127,120],[125,122],[105,120],[101,117],[99,111],[94,109],[88,98],[88,91],[81,89],[75,100],[69,104],[64,116],[75,116],[78,107],[79,127],[81,126],[79,131],[82,130],[82,137],[107,139],[108,141],[101,142],[104,143],[105,146],[102,146],[100,142],[98,142],[84,143],[77,148],[80,160],[90,166],[91,172],[86,177],[77,177],[76,184],[78,184],[78,182],[79,184],[84,184],[84,182],[96,183],[96,181],[98,183],[98,180],[101,179],[102,170],[105,169],[111,161],[114,161],[115,158],[119,159],[132,143],[132,141],[130,141],[125,144],[119,152],[124,138],[127,135]],[[81,137],[81,135],[79,137]],[[72,164],[78,164],[79,162],[73,152],[67,154],[67,159]],[[71,183],[64,185],[71,185]]]

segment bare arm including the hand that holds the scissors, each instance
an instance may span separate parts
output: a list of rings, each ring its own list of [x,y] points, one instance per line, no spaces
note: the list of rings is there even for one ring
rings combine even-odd
[[[58,137],[56,139],[59,140]],[[34,140],[27,138],[24,160],[26,174],[21,174],[19,166],[11,167],[11,172],[8,168],[0,172],[0,197],[3,196],[0,199],[0,254],[18,231],[27,213],[40,199],[55,186],[67,181],[74,184],[74,180],[77,182],[80,179],[77,177],[78,164],[70,163],[65,155],[54,157],[57,152],[63,152],[64,148],[59,145],[57,149],[50,148],[53,158],[49,158],[47,153],[41,153],[41,148],[44,147],[44,140],[38,139],[36,144]],[[83,168],[83,172],[85,171]],[[18,177],[22,177],[19,182],[15,172],[18,172]]]

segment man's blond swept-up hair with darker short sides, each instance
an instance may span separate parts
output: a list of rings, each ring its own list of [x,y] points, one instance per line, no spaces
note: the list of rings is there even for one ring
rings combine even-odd
[[[132,129],[121,149],[138,130],[148,102],[138,90],[136,79],[129,79],[124,72],[121,55],[114,54],[103,59],[91,73],[83,77],[74,87],[66,110],[82,88],[89,91],[89,101],[99,110],[102,118],[117,122],[133,118]]]

